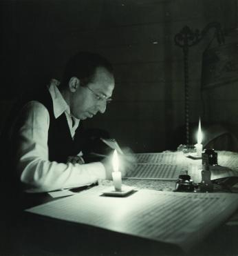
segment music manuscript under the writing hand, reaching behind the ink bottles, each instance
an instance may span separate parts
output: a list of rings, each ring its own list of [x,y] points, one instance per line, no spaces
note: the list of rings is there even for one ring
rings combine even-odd
[[[217,153],[219,166],[210,166],[211,179],[237,177],[238,153]],[[130,179],[177,179],[186,172],[196,183],[202,179],[202,159],[190,159],[182,152],[140,153],[135,157],[139,164],[127,175]]]

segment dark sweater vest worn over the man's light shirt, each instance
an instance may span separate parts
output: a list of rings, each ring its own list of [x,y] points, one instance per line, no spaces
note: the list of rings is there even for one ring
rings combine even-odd
[[[77,155],[80,150],[83,150],[87,144],[85,136],[83,135],[83,127],[80,121],[80,126],[76,129],[74,140],[71,137],[69,126],[65,113],[58,117],[54,117],[53,101],[47,88],[41,88],[36,92],[28,93],[20,97],[19,101],[13,106],[10,115],[6,120],[6,125],[1,132],[1,187],[6,190],[8,195],[6,199],[12,197],[14,199],[17,195],[21,197],[23,184],[19,182],[19,176],[16,171],[16,154],[17,145],[19,144],[18,132],[19,128],[23,125],[23,120],[18,118],[23,109],[23,106],[30,101],[39,101],[47,108],[50,114],[50,127],[47,133],[48,141],[47,146],[49,150],[49,160],[57,161],[58,163],[66,163],[67,157]],[[14,129],[13,129],[14,128]],[[47,129],[45,129],[47,132]],[[4,197],[4,196],[3,196]]]

